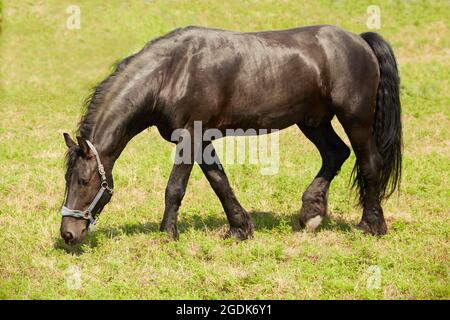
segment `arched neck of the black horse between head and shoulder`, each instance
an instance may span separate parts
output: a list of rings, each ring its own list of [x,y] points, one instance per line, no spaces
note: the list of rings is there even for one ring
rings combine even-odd
[[[151,125],[161,88],[154,55],[136,55],[105,88],[89,133],[102,153],[115,161],[127,143]]]

